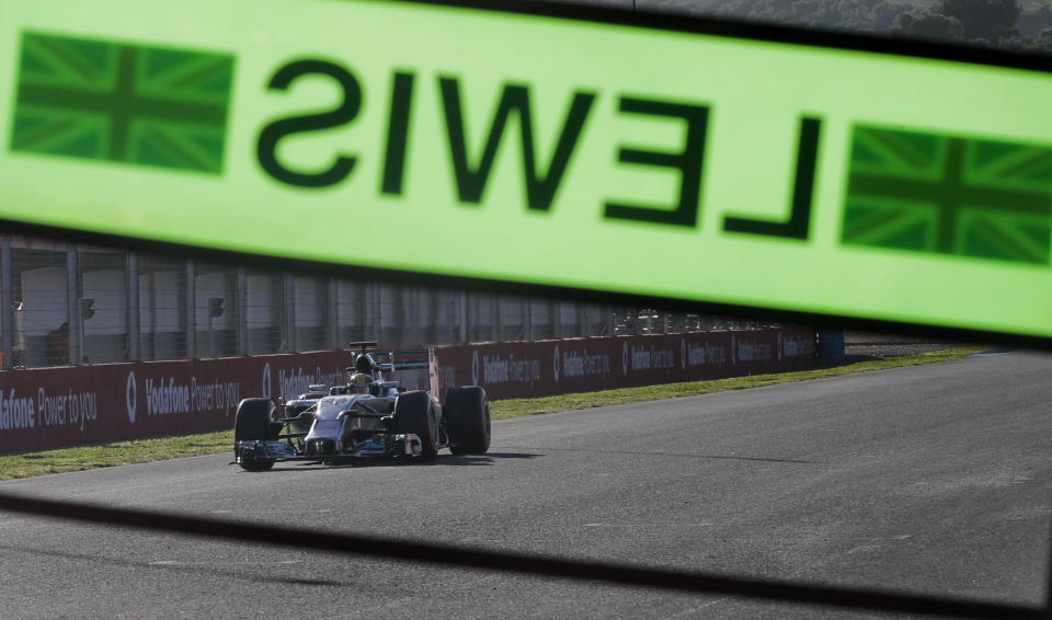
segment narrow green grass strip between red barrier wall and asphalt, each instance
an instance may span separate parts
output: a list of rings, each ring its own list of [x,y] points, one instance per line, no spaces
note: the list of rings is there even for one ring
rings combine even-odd
[[[653,401],[679,397],[693,397],[711,392],[729,390],[744,390],[776,383],[790,383],[807,379],[822,379],[838,377],[868,370],[887,368],[902,368],[905,366],[921,366],[939,361],[961,359],[983,351],[981,347],[958,347],[944,351],[934,351],[918,355],[902,357],[887,357],[832,366],[814,368],[797,372],[779,372],[775,375],[753,375],[735,377],[733,379],[717,379],[712,381],[689,381],[685,383],[663,383],[642,388],[621,388],[603,390],[601,392],[582,392],[562,394],[558,397],[540,397],[536,399],[511,399],[493,401],[491,413],[494,418],[521,417],[540,413],[571,411],[607,406],[632,402]],[[38,450],[32,452],[16,452],[0,455],[0,480],[28,478],[48,473],[62,473],[114,467],[130,463],[142,463],[227,452],[233,446],[233,430],[216,433],[199,433],[195,435],[178,435],[173,437],[158,437],[155,439],[137,439],[130,441],[114,441],[75,448],[55,450]]]

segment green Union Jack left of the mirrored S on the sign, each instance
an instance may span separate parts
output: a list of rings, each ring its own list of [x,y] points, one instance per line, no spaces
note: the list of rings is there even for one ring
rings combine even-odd
[[[219,174],[233,56],[23,33],[11,149]]]

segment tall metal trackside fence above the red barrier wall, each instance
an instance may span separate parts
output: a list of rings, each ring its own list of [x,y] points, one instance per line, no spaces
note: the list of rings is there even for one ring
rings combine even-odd
[[[0,238],[0,308],[4,368],[766,326],[24,237]]]

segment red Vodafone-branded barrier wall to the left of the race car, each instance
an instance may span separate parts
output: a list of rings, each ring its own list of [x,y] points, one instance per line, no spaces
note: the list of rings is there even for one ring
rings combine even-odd
[[[345,382],[347,351],[0,372],[0,451],[233,427],[238,402]],[[427,372],[403,371],[410,388]]]

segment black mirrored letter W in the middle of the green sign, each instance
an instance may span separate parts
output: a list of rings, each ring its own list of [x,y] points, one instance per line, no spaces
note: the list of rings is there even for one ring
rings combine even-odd
[[[457,192],[461,203],[480,203],[485,192],[485,183],[493,168],[493,159],[504,136],[504,126],[513,112],[518,114],[523,142],[523,174],[526,182],[526,202],[530,209],[548,210],[570,163],[570,157],[576,146],[581,129],[595,101],[595,94],[575,92],[570,111],[562,124],[559,143],[548,164],[548,173],[537,170],[534,154],[533,118],[529,113],[529,88],[505,85],[501,101],[493,115],[493,124],[485,138],[482,159],[478,167],[468,163],[468,151],[464,130],[464,114],[460,106],[460,81],[457,78],[438,78],[442,89],[442,102],[446,114],[446,129],[449,133],[449,150],[453,154],[453,169],[457,177]]]

